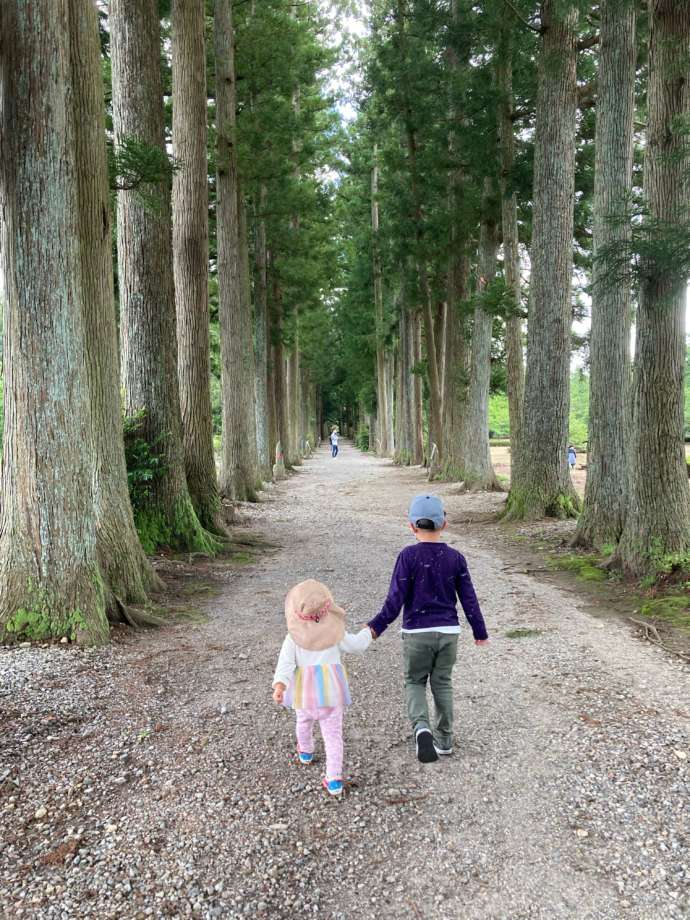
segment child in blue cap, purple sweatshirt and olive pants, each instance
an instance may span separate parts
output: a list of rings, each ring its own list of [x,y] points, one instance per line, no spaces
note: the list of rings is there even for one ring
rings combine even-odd
[[[446,526],[443,503],[436,495],[417,495],[409,511],[417,538],[398,556],[386,602],[367,624],[375,636],[403,612],[405,699],[417,757],[422,763],[453,753],[453,665],[460,623],[460,598],[476,645],[489,641],[465,557],[441,542]],[[429,722],[427,681],[436,707],[435,732]]]

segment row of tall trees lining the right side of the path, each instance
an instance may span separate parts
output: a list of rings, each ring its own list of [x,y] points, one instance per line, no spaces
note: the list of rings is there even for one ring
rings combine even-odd
[[[336,322],[351,352],[375,327],[350,385],[372,446],[495,488],[487,400],[503,388],[506,516],[577,514],[569,381],[588,293],[577,540],[635,573],[687,562],[690,4],[371,6]]]

